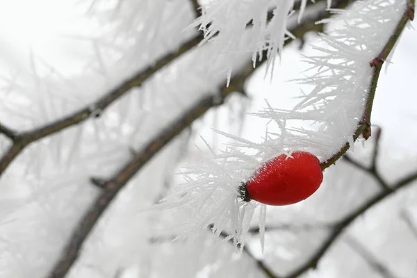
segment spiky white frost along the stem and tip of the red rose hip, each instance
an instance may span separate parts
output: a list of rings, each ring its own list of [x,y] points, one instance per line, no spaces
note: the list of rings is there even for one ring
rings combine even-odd
[[[242,181],[279,154],[302,149],[326,161],[346,142],[352,143],[373,74],[369,63],[389,40],[405,8],[405,1],[377,0],[359,2],[347,12],[334,11],[341,13],[334,20],[340,25],[330,35],[322,35],[322,44],[314,47],[316,56],[306,57],[314,71],[300,82],[313,89],[290,111],[272,108],[267,102],[267,108],[256,113],[277,124],[280,132],[267,130],[264,141],[255,143],[218,131],[233,141],[224,151],[211,150],[212,156],[187,167],[183,172],[186,182],[174,188],[160,205],[191,212],[190,219],[179,227],[185,236],[195,237],[213,224],[215,236],[227,231],[228,239],[242,247],[258,206],[238,197]],[[286,128],[289,120],[313,122],[314,129]]]

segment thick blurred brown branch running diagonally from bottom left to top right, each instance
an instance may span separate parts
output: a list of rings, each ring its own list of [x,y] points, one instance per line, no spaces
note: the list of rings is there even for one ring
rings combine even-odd
[[[345,3],[345,1],[342,1],[341,3]],[[318,25],[314,24],[314,22],[329,16],[330,14],[328,12],[320,13],[317,18],[306,20],[306,22],[303,22],[299,26],[295,26],[291,32],[293,34],[297,34],[297,38],[300,38],[306,32],[311,31],[311,28],[309,27],[313,27],[313,30],[318,28]],[[288,44],[289,42],[291,42],[291,40],[286,40],[285,44]],[[257,66],[261,65],[261,63],[265,61],[265,58],[266,55],[263,55],[263,60],[259,61]],[[92,179],[92,183],[98,184],[99,187],[104,188],[104,190],[92,206],[90,206],[90,209],[83,216],[79,226],[74,230],[74,233],[72,234],[69,243],[67,243],[63,254],[61,254],[54,270],[52,270],[51,275],[49,275],[50,278],[62,278],[66,275],[74,261],[76,261],[85,238],[87,238],[88,234],[90,234],[90,231],[99,220],[101,214],[108,207],[108,205],[111,204],[111,201],[117,193],[119,193],[119,191],[140,170],[140,168],[145,165],[145,163],[147,163],[147,161],[149,161],[149,159],[151,159],[160,149],[167,145],[170,140],[181,133],[183,129],[186,129],[195,119],[204,115],[209,108],[222,104],[224,99],[230,95],[231,92],[242,92],[247,77],[249,77],[253,72],[254,67],[251,60],[243,67],[243,70],[231,79],[229,87],[226,86],[226,83],[220,86],[220,98],[219,95],[216,95],[202,99],[193,108],[186,111],[182,117],[177,119],[172,124],[167,125],[165,129],[152,138],[146,147],[144,147],[140,152],[136,152],[131,161],[124,165],[122,170],[117,172],[113,179],[108,181],[103,181],[97,178]]]

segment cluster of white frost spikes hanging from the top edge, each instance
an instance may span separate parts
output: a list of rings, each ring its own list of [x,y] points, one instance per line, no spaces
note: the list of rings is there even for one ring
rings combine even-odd
[[[288,15],[293,9],[293,0],[215,0],[210,1],[192,25],[200,26],[204,31],[202,43],[215,37],[220,54],[236,56],[241,52],[252,51],[252,60],[267,50],[270,62],[284,47],[285,36],[291,36],[287,30]],[[305,8],[306,1],[302,6]],[[268,12],[272,18],[267,24]],[[242,36],[247,24],[252,23],[250,44],[242,47]],[[219,33],[220,32],[220,33]],[[230,68],[229,70],[233,70]]]

